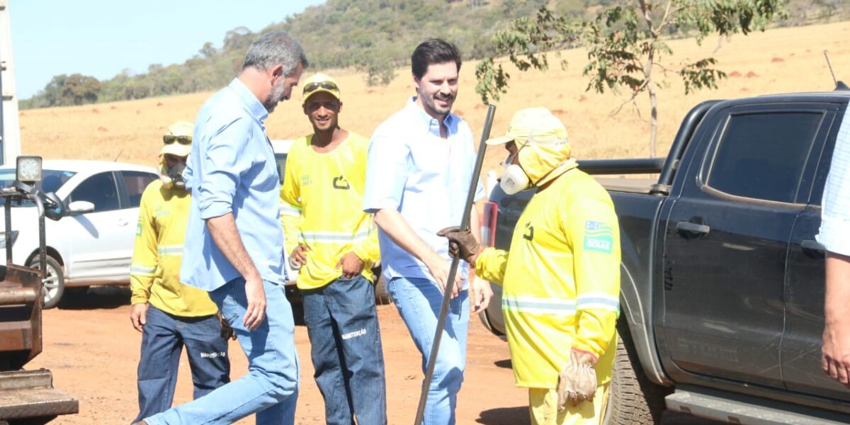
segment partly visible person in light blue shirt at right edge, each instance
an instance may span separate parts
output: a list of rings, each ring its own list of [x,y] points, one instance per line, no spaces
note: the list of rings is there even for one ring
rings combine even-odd
[[[844,112],[821,202],[818,241],[826,248],[821,366],[850,388],[850,113]]]

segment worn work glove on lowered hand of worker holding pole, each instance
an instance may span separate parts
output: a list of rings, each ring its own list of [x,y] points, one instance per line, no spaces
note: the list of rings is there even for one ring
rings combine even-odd
[[[587,351],[570,350],[570,363],[558,374],[558,411],[564,411],[567,403],[578,405],[591,401],[596,394],[596,357]]]

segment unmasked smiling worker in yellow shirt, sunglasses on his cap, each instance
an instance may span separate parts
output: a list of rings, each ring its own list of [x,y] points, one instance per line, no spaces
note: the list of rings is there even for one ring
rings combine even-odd
[[[315,74],[303,82],[314,133],[295,140],[286,156],[281,221],[290,265],[299,268],[326,422],[382,425],[386,388],[371,272],[380,254],[372,216],[363,212],[369,139],[339,127],[342,108],[336,80]]]

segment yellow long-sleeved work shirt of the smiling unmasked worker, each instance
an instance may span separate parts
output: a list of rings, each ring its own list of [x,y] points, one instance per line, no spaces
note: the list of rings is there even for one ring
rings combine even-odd
[[[326,153],[313,150],[312,139],[311,134],[292,144],[280,188],[286,250],[292,252],[297,243],[309,246],[297,286],[313,289],[336,280],[343,273],[337,263],[348,252],[365,262],[362,275],[371,280],[380,252],[372,215],[363,212],[369,139],[348,133]]]

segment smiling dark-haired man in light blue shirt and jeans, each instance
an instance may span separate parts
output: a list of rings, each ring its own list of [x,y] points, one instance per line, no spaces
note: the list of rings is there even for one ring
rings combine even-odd
[[[371,139],[364,210],[375,213],[387,287],[416,348],[428,363],[443,292],[452,299],[441,337],[424,423],[455,423],[457,392],[466,363],[469,297],[474,313],[487,307],[490,283],[475,280],[467,293],[467,264],[447,284],[448,243],[439,229],[461,224],[475,149],[466,122],[450,113],[461,57],[450,42],[422,42],[411,57],[416,97],[383,122]],[[478,178],[478,176],[475,176]],[[484,197],[479,182],[476,200]],[[479,231],[472,214],[470,228]]]

